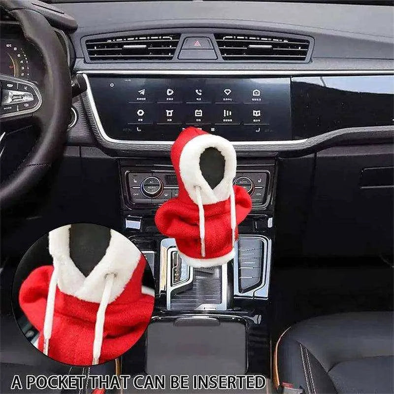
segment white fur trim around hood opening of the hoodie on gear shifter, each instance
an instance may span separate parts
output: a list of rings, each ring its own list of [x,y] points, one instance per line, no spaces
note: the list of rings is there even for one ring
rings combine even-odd
[[[216,148],[225,158],[225,171],[223,179],[214,188],[202,176],[200,169],[200,156],[207,148]],[[230,197],[230,185],[235,177],[237,159],[234,147],[227,139],[213,134],[202,134],[185,144],[179,158],[179,171],[185,189],[193,202],[197,204],[195,187],[201,188],[203,204],[214,204],[225,201]]]

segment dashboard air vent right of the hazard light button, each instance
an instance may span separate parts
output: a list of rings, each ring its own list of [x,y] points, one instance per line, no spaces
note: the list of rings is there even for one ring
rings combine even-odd
[[[304,62],[307,39],[250,34],[215,34],[223,60]]]

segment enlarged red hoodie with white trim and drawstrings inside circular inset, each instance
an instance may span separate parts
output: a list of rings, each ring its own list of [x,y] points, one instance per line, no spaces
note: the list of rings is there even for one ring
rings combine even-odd
[[[149,324],[154,297],[142,291],[146,260],[131,241],[111,230],[104,257],[85,277],[69,257],[68,229],[64,226],[50,232],[53,265],[30,273],[21,286],[19,303],[40,332],[41,352],[73,365],[110,361],[129,350]],[[52,295],[51,280],[55,283]],[[97,327],[99,320],[101,327]],[[48,327],[44,326],[48,325],[50,332],[46,333]]]

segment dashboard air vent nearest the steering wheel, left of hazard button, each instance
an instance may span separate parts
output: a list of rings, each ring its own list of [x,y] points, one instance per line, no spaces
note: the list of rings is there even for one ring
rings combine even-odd
[[[149,34],[86,40],[89,60],[172,60],[180,34]]]

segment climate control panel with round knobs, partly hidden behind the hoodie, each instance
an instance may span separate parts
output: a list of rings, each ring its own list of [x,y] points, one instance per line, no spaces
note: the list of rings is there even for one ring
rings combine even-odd
[[[178,197],[178,182],[172,171],[138,172],[126,169],[125,185],[129,206],[161,205]],[[268,169],[237,171],[234,185],[243,187],[251,196],[253,208],[264,208],[269,200],[271,172]]]

